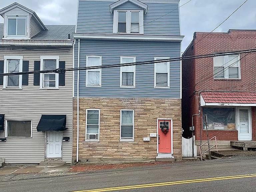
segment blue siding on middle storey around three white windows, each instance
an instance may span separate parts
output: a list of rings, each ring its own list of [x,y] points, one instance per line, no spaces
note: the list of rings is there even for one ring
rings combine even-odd
[[[78,41],[75,45],[77,67]],[[86,66],[86,55],[102,56],[102,65],[120,64],[120,56],[136,56],[136,61],[154,57],[180,57],[180,42],[82,40],[80,67]],[[85,87],[86,71],[80,71],[80,97],[180,98],[180,61],[170,63],[170,89],[154,88],[154,64],[136,66],[136,88],[120,88],[120,67],[102,69],[102,87]],[[75,72],[77,96],[77,72]]]

